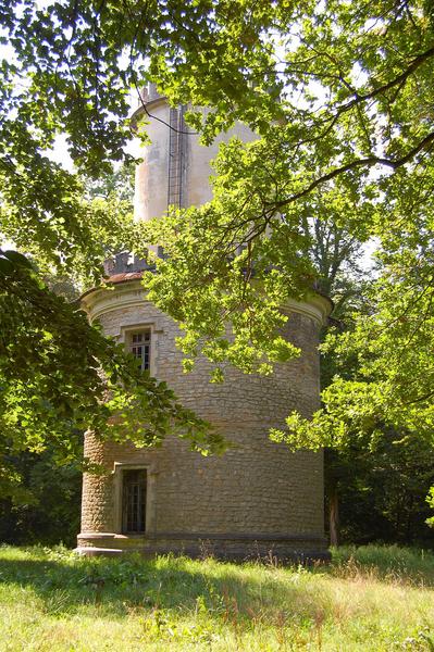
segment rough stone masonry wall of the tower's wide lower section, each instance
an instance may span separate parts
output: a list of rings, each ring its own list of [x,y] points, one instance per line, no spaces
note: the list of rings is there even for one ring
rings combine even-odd
[[[211,421],[234,443],[222,456],[191,452],[181,439],[168,438],[159,449],[101,444],[88,436],[85,454],[102,463],[104,476],[84,479],[82,532],[119,532],[115,510],[115,463],[148,467],[147,535],[323,536],[323,461],[321,453],[290,453],[269,440],[271,427],[283,427],[297,409],[309,416],[319,406],[318,324],[292,314],[286,337],[301,356],[277,365],[269,377],[228,369],[223,385],[209,383],[210,365],[199,360],[183,374],[175,348],[175,323],[147,301],[100,315],[107,335],[150,325],[152,372],[182,400]],[[85,538],[85,537],[83,537]],[[122,543],[119,543],[120,546]]]

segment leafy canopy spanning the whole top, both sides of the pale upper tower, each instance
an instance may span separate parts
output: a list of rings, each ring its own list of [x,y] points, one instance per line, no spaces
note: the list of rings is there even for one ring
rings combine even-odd
[[[356,356],[358,371],[336,376],[313,422],[293,415],[280,436],[345,447],[351,432],[369,443],[381,422],[432,438],[431,2],[7,0],[0,20],[12,48],[0,87],[8,238],[94,277],[121,243],[139,254],[162,244],[150,297],[183,324],[187,359],[202,351],[219,380],[226,362],[270,373],[296,355],[278,336],[280,306],[313,291],[306,225],[333,216],[352,242],[377,242],[370,314],[327,344],[343,366]],[[222,146],[212,202],[173,210],[133,239],[114,200],[99,211],[84,201],[77,177],[46,152],[66,134],[77,172],[94,178],[127,159],[128,93],[148,82],[193,106],[186,120],[203,142],[235,121],[258,139]]]

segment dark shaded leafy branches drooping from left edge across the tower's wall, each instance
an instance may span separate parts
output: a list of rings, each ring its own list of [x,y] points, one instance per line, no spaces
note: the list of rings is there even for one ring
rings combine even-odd
[[[50,291],[27,259],[0,253],[3,496],[20,489],[14,454],[49,446],[58,463],[71,463],[79,459],[87,428],[137,446],[158,446],[176,431],[197,450],[219,449],[221,438],[208,424],[165,383],[142,374],[121,344],[90,327],[74,303]]]

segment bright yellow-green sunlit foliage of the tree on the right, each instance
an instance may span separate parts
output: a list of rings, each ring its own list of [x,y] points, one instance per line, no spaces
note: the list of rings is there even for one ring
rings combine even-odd
[[[148,280],[151,296],[189,327],[187,353],[208,336],[216,363],[266,369],[264,360],[293,354],[270,336],[278,305],[287,292],[306,296],[318,273],[306,221],[332,220],[354,242],[377,242],[369,313],[326,343],[340,369],[324,409],[311,422],[293,415],[283,438],[373,447],[385,425],[398,440],[432,442],[432,7],[243,3],[235,14],[216,4],[213,63],[201,35],[201,47],[173,59],[160,50],[152,74],[172,101],[212,106],[190,117],[206,140],[234,120],[261,137],[221,148],[210,204],[152,226],[169,258]],[[227,315],[234,344],[218,339]]]

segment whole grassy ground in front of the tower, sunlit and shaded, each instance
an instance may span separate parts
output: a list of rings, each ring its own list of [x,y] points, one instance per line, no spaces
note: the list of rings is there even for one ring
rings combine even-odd
[[[434,555],[339,548],[303,568],[1,547],[0,650],[434,651]]]

